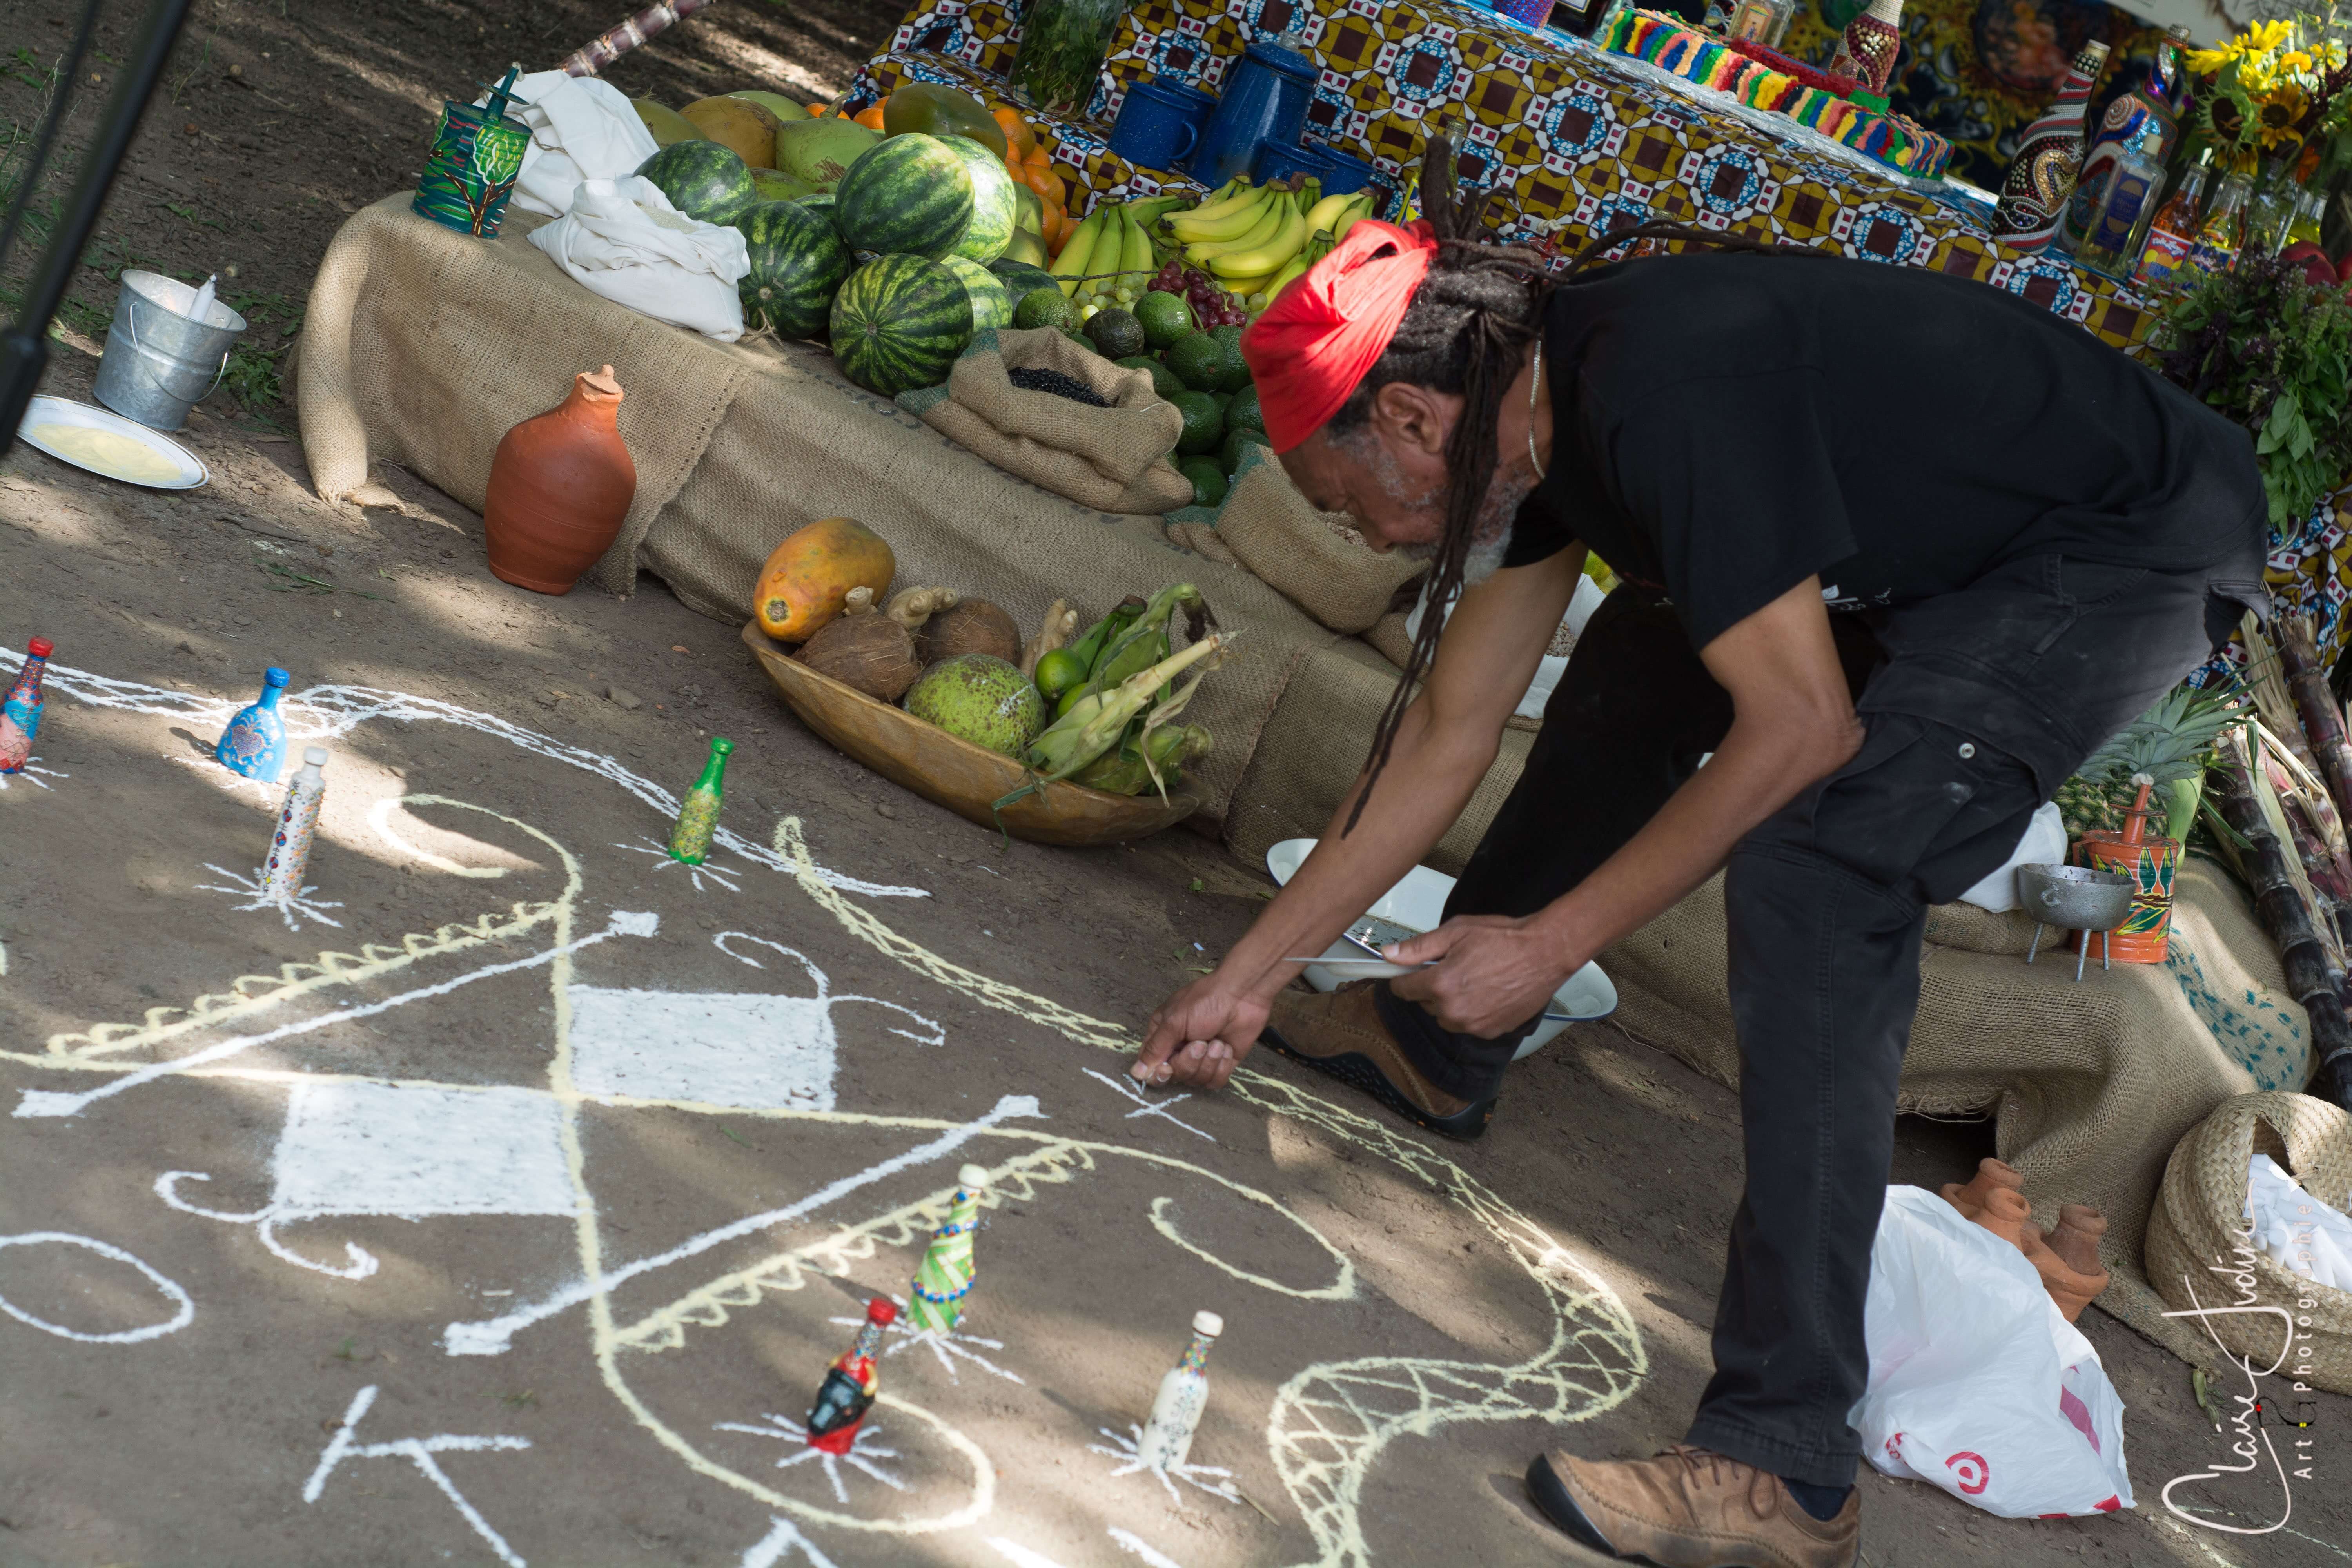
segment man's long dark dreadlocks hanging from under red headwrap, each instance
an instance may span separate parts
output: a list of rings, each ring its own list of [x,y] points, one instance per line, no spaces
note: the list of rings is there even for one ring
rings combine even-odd
[[[1397,743],[1397,724],[1414,698],[1414,686],[1437,658],[1444,607],[1463,590],[1463,567],[1470,557],[1479,510],[1486,503],[1486,487],[1494,482],[1503,390],[1517,378],[1526,346],[1543,331],[1552,289],[1573,282],[1606,252],[1639,240],[1780,252],[1776,244],[1658,221],[1595,237],[1576,252],[1559,277],[1552,277],[1541,252],[1524,244],[1498,244],[1486,233],[1489,193],[1461,193],[1454,179],[1454,155],[1449,136],[1428,139],[1421,155],[1421,216],[1428,219],[1437,240],[1437,256],[1430,259],[1430,270],[1404,308],[1404,320],[1397,322],[1388,348],[1364,371],[1348,402],[1324,423],[1327,435],[1345,435],[1364,425],[1371,418],[1374,397],[1390,381],[1425,386],[1432,393],[1463,400],[1461,418],[1446,435],[1446,522],[1430,567],[1423,599],[1428,609],[1421,614],[1421,630],[1414,635],[1414,649],[1397,677],[1397,689],[1381,712],[1381,726],[1371,736],[1364,790],[1355,797],[1341,837],[1355,832],[1357,818],[1364,816],[1364,802],[1371,799],[1371,788],[1388,766],[1388,752]],[[1818,256],[1820,252],[1785,254]],[[1555,407],[1559,404],[1555,402]]]

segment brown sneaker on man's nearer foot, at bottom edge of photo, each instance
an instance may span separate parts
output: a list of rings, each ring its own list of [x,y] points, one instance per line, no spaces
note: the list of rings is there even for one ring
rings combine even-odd
[[[1813,1519],[1780,1476],[1675,1443],[1653,1460],[1538,1453],[1526,1495],[1588,1547],[1661,1568],[1849,1568],[1863,1549],[1863,1497]]]

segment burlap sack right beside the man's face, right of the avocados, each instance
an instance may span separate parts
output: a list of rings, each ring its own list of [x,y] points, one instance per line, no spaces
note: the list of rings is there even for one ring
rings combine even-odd
[[[1428,571],[1402,550],[1378,555],[1343,512],[1317,512],[1265,447],[1244,447],[1216,536],[1298,609],[1334,632],[1364,632],[1395,592]]]

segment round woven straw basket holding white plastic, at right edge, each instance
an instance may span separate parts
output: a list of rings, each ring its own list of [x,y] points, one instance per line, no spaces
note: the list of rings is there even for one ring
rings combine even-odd
[[[2256,1154],[2286,1166],[2321,1204],[2352,1192],[2352,1117],[2343,1110],[2300,1093],[2225,1100],[2164,1166],[2147,1215],[2147,1281],[2176,1312],[2209,1309],[2204,1324],[2256,1371],[2286,1352],[2279,1378],[2352,1394],[2352,1293],[2303,1279],[2246,1239],[2246,1161]],[[2281,1307],[2296,1316],[2293,1340],[2270,1312],[2216,1307]]]

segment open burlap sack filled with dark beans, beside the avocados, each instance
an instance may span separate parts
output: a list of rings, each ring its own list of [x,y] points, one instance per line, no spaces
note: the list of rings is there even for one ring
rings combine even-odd
[[[1110,407],[1014,386],[1014,369],[1061,371]],[[898,407],[1004,473],[1101,512],[1192,501],[1192,482],[1169,463],[1183,416],[1152,390],[1150,371],[1120,369],[1051,327],[974,334],[946,386],[901,393]]]

